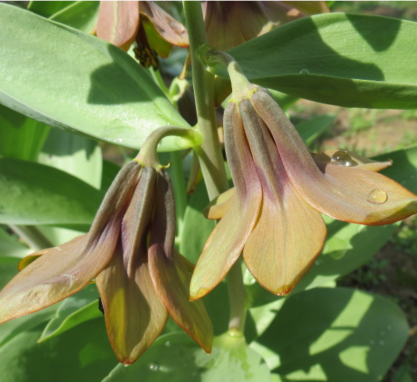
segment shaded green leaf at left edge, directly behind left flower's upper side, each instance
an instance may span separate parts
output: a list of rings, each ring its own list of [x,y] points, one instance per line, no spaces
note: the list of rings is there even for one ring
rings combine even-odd
[[[0,159],[3,224],[69,224],[88,231],[102,198],[95,188],[53,167]]]

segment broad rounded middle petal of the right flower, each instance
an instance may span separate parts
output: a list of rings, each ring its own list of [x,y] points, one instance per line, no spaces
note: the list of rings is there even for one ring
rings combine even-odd
[[[246,242],[243,259],[264,288],[287,294],[320,254],[326,224],[294,190],[252,103],[241,101],[239,111],[263,189],[261,217]]]

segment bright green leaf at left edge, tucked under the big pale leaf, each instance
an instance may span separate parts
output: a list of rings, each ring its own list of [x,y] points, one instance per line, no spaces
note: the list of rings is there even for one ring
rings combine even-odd
[[[36,160],[49,126],[0,105],[0,156]]]

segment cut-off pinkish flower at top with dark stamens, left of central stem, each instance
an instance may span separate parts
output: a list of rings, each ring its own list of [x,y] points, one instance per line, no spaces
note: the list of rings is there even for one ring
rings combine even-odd
[[[142,67],[158,67],[158,55],[167,58],[172,44],[188,47],[186,28],[154,1],[101,1],[97,37],[127,51],[133,49]]]

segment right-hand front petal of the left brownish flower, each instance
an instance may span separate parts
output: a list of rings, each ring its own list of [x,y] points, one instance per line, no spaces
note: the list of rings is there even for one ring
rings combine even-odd
[[[154,217],[149,241],[149,272],[159,298],[168,312],[193,340],[210,353],[213,326],[203,301],[189,299],[190,274],[180,255],[174,251],[175,202],[169,176],[158,174]]]

